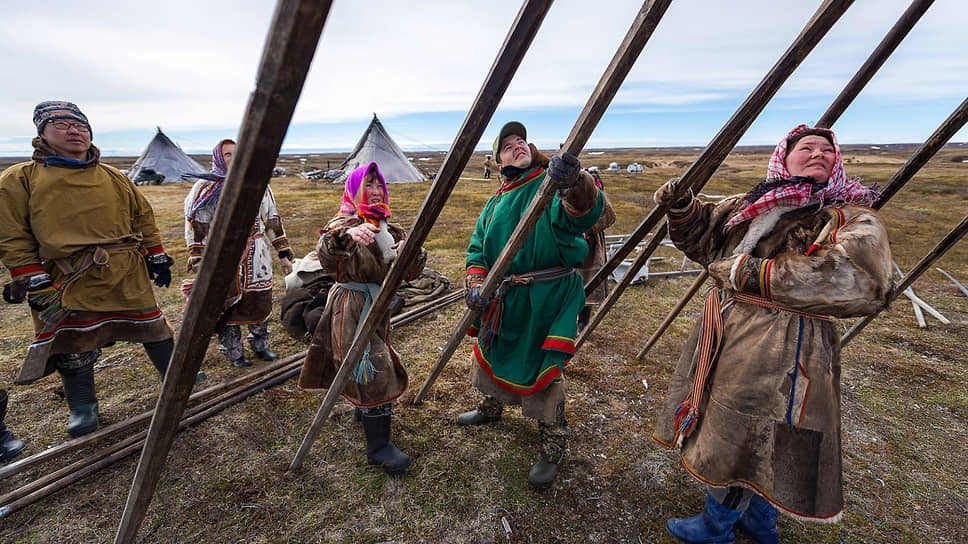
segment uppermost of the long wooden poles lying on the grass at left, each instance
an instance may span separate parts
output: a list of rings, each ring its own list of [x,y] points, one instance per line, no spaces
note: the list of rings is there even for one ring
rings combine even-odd
[[[209,387],[208,389],[204,389],[202,391],[198,391],[197,393],[192,393],[191,397],[189,397],[188,400],[189,402],[203,401],[209,397],[218,395],[223,391],[232,389],[240,384],[254,382],[260,376],[268,374],[278,368],[281,368],[289,363],[292,363],[293,361],[299,360],[303,358],[305,355],[306,355],[305,351],[302,351],[295,355],[290,355],[289,357],[280,359],[279,361],[275,361],[270,365],[259,367],[257,370],[253,370],[252,372],[243,374],[242,376],[239,376],[233,380],[223,382],[218,385],[213,385],[212,387]],[[58,444],[52,448],[48,448],[40,453],[31,455],[30,457],[21,459],[15,463],[4,465],[0,467],[0,479],[8,478],[36,464],[43,463],[46,461],[52,461],[54,459],[67,455],[68,453],[73,453],[81,448],[85,448],[92,444],[96,444],[116,434],[127,432],[131,429],[134,429],[141,423],[148,421],[151,418],[152,413],[154,412],[153,411],[144,412],[137,416],[130,417],[124,421],[119,421],[114,425],[108,425],[106,427],[102,427],[91,434],[86,434],[82,437],[75,438],[73,440],[68,440],[67,442]]]

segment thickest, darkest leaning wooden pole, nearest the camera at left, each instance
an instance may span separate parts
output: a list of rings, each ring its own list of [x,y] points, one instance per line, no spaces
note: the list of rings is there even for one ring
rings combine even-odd
[[[115,536],[138,532],[245,247],[329,14],[330,1],[279,0],[175,351]]]

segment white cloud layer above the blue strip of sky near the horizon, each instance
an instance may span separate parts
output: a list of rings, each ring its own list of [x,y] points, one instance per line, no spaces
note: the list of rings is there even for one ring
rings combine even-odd
[[[784,87],[836,96],[907,7],[858,0]],[[337,1],[294,123],[466,111],[520,4],[512,0]],[[616,104],[702,111],[746,96],[818,2],[677,0]],[[641,7],[552,6],[502,108],[581,108]],[[18,3],[0,19],[0,136],[29,137],[34,104],[70,99],[96,131],[237,127],[272,5],[260,0]],[[57,24],[49,23],[56,13]],[[934,100],[968,88],[968,5],[938,2],[858,100]],[[449,137],[449,135],[444,135]],[[0,141],[0,153],[6,145]]]

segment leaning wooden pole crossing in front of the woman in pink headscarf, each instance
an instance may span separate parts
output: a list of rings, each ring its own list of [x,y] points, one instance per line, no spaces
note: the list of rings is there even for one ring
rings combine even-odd
[[[437,177],[417,213],[417,218],[406,242],[404,242],[397,259],[390,267],[386,278],[383,279],[383,285],[371,304],[369,313],[357,327],[353,344],[347,351],[343,364],[340,365],[329,391],[326,392],[323,402],[316,411],[316,416],[313,418],[299,450],[289,464],[290,470],[302,467],[303,461],[309,454],[316,437],[319,436],[330,410],[333,409],[339,395],[343,392],[350,370],[363,356],[363,351],[370,342],[370,336],[376,330],[387,308],[389,308],[397,286],[403,281],[407,266],[417,257],[420,248],[427,239],[427,235],[440,215],[447,197],[457,184],[464,166],[467,165],[468,159],[474,152],[474,147],[481,140],[487,123],[494,115],[501,97],[504,96],[504,91],[511,83],[514,73],[521,64],[524,54],[534,40],[534,36],[538,33],[538,29],[550,8],[551,0],[526,0],[518,11],[517,18],[514,20],[511,30],[501,46],[501,51],[491,66],[491,71],[488,73],[484,85],[474,99],[474,104],[467,113],[464,124],[457,133],[457,138],[454,139],[450,151],[437,171]]]

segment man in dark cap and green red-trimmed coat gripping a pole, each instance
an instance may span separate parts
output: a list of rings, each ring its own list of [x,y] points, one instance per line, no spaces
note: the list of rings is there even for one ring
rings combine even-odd
[[[494,141],[501,187],[477,220],[467,247],[466,302],[482,312],[469,334],[474,343],[471,383],[484,395],[477,409],[457,417],[458,425],[501,418],[517,404],[538,421],[539,460],[528,474],[534,487],[552,484],[567,445],[564,369],[575,352],[578,312],[585,305],[579,266],[588,245],[582,233],[602,214],[604,198],[591,175],[569,153],[549,161],[527,141],[521,123],[505,124]],[[557,195],[514,257],[492,300],[481,285],[494,266],[545,176]]]

